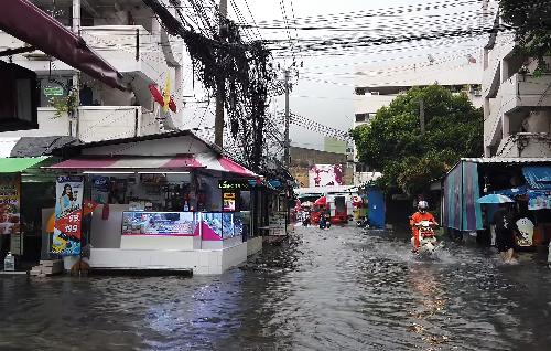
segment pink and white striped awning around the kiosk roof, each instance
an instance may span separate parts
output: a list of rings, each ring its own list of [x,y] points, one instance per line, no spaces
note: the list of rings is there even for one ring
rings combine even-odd
[[[155,157],[79,157],[46,167],[51,170],[75,170],[75,171],[190,171],[205,169],[225,173],[234,173],[241,177],[257,177],[255,172],[246,169],[233,160],[212,153],[155,156]]]

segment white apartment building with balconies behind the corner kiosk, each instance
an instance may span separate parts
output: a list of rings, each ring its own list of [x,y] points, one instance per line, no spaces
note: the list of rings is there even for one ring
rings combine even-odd
[[[127,91],[111,88],[40,51],[4,57],[36,73],[40,100],[37,128],[4,129],[0,137],[72,136],[89,142],[163,132],[181,119],[183,43],[165,33],[141,0],[33,3],[121,73]],[[23,46],[24,42],[0,32],[0,50]],[[151,93],[152,85],[162,91],[166,77],[176,113],[164,111]]]

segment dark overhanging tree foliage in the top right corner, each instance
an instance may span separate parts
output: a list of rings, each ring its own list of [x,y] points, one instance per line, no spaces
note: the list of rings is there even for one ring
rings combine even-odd
[[[543,57],[551,54],[551,2],[500,0],[501,19],[516,34],[517,54],[538,60],[534,74],[547,71]]]

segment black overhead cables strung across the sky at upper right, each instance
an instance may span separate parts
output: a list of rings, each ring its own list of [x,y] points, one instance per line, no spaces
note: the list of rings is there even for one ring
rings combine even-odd
[[[528,4],[519,4],[527,10]],[[301,51],[305,55],[331,55],[422,42],[450,45],[457,39],[478,40],[496,32],[510,32],[507,24],[494,24],[497,3],[484,8],[480,0],[431,1],[379,10],[316,14],[287,20],[241,22],[247,29],[262,30],[274,55]],[[289,29],[300,31],[295,42],[278,38]],[[273,35],[269,35],[273,33]]]

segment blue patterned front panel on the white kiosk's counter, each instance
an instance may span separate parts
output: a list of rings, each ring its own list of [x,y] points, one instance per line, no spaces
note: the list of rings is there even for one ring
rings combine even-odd
[[[123,212],[122,235],[194,236],[193,212]]]

